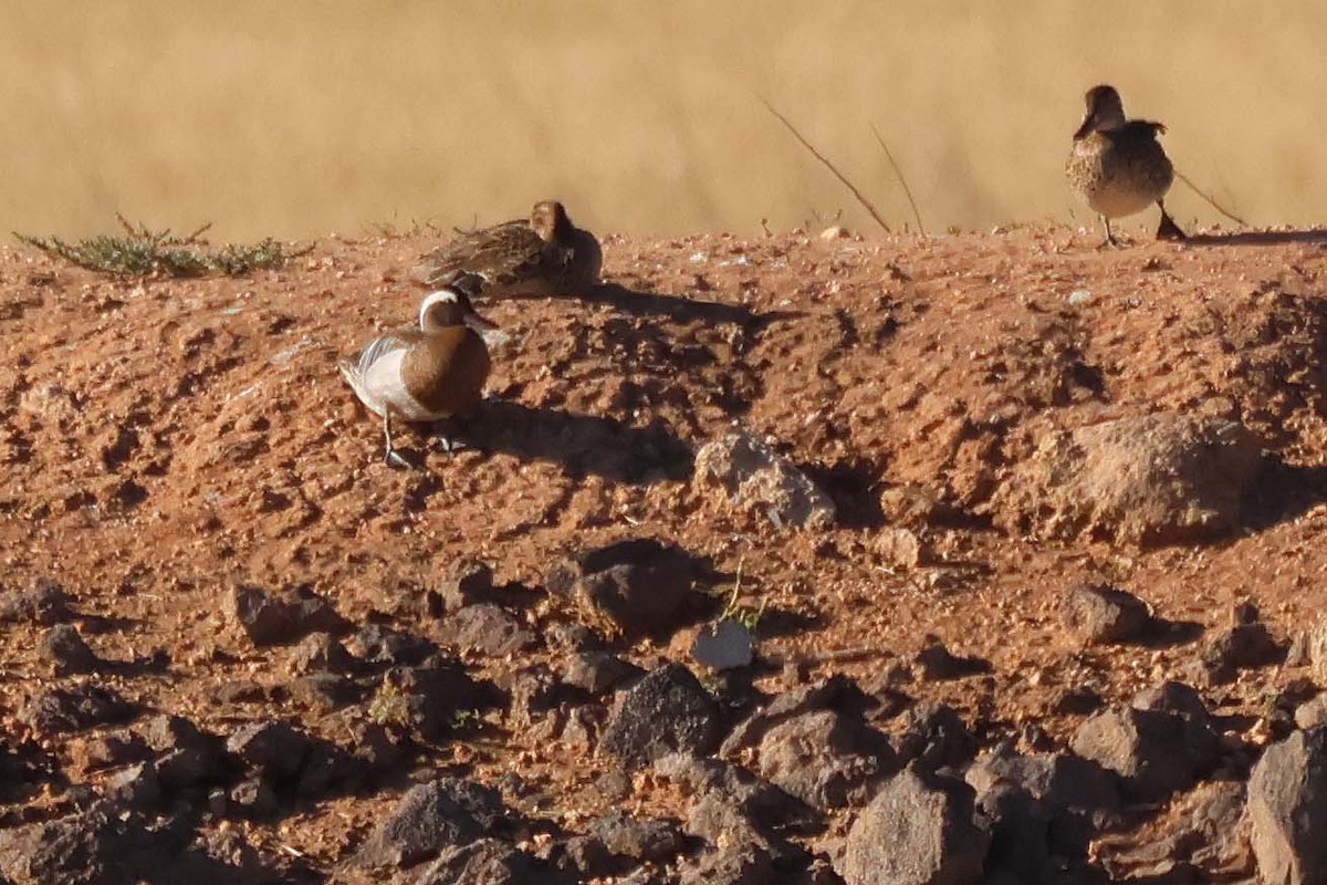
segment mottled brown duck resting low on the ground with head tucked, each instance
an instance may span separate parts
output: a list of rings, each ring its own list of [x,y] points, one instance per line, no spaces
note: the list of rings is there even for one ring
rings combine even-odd
[[[462,273],[476,273],[486,296],[549,296],[589,289],[598,283],[602,261],[598,239],[576,227],[567,207],[540,200],[528,219],[458,232],[425,255],[410,279],[439,287]]]

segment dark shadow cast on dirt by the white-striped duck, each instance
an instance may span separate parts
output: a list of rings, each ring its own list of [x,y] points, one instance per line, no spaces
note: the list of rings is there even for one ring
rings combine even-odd
[[[561,409],[484,401],[467,421],[467,446],[520,460],[557,463],[573,479],[591,475],[632,484],[683,480],[694,470],[691,446],[662,421],[633,427]]]

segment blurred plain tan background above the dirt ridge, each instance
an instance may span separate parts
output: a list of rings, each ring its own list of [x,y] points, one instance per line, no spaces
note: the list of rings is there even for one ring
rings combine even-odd
[[[496,220],[545,195],[640,235],[840,208],[869,228],[758,94],[898,224],[872,123],[932,230],[1083,222],[1060,167],[1097,81],[1250,223],[1315,223],[1327,199],[1314,3],[4,5],[3,230],[101,231],[122,211],[301,238]],[[1216,220],[1182,186],[1172,204]]]

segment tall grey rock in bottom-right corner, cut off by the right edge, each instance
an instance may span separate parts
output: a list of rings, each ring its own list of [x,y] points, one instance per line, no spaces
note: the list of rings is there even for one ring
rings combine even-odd
[[[1263,882],[1308,885],[1327,870],[1327,727],[1267,747],[1249,779],[1253,853]]]

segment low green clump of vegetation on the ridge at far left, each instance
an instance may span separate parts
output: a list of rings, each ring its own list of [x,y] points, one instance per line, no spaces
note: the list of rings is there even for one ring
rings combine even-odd
[[[98,234],[77,243],[58,236],[29,236],[15,234],[20,241],[42,252],[102,273],[126,276],[203,276],[224,273],[242,276],[249,271],[276,268],[292,257],[304,255],[312,247],[287,251],[285,245],[265,238],[249,245],[226,244],[212,248],[203,239],[211,228],[204,224],[188,236],[176,236],[170,230],[153,231],[146,224],[135,224],[117,215],[123,234]]]

